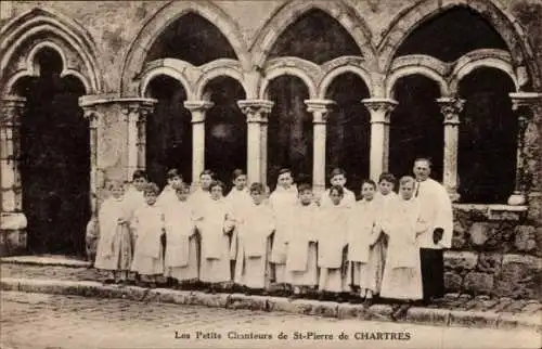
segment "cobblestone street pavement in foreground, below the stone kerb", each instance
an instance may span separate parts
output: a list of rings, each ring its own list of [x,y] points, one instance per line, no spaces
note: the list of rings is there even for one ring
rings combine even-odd
[[[17,292],[2,293],[0,324],[4,349],[540,347],[540,334],[534,332],[431,327]],[[176,338],[176,332],[177,337],[190,335],[190,339]],[[281,332],[288,339],[279,339]],[[321,337],[294,339],[296,332],[306,336],[314,332]],[[268,334],[272,339],[228,338],[250,333]],[[341,333],[349,338],[339,339]],[[324,339],[324,335],[333,339]],[[378,336],[388,340],[378,340]]]

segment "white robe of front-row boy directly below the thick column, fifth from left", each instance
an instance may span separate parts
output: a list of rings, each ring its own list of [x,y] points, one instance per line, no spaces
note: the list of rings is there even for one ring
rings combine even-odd
[[[238,232],[235,283],[250,288],[269,286],[268,258],[270,235],[275,229],[273,210],[268,204],[244,207],[236,216]]]

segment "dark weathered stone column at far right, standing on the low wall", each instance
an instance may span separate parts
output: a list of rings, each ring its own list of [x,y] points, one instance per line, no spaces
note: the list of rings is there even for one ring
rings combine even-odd
[[[517,155],[516,155],[516,182],[514,193],[508,198],[508,205],[519,206],[527,204],[526,194],[531,190],[532,173],[526,161],[529,150],[538,148],[540,144],[533,144],[538,141],[537,138],[527,137],[531,129],[538,133],[537,125],[533,122],[533,111],[535,103],[540,103],[541,94],[532,92],[509,93],[512,99],[512,108],[516,112],[518,120],[517,130]],[[535,171],[537,169],[534,169]]]

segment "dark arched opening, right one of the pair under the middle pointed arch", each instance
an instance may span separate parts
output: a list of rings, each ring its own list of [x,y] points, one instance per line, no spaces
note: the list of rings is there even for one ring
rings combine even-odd
[[[369,178],[371,115],[361,103],[369,98],[369,89],[359,76],[346,73],[330,85],[326,98],[336,104],[327,117],[325,173],[343,168],[346,186],[359,194],[361,181]]]

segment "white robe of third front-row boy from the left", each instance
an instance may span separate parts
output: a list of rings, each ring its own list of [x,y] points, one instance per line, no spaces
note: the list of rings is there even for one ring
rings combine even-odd
[[[195,280],[198,277],[197,238],[193,210],[189,203],[172,202],[166,207],[165,276]]]

